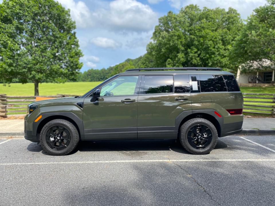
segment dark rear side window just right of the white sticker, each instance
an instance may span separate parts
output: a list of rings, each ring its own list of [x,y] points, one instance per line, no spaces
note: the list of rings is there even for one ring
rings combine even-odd
[[[199,75],[201,92],[227,92],[221,75]]]

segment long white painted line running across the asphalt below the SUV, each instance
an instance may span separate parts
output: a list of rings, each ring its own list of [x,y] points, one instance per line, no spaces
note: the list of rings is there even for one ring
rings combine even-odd
[[[94,164],[94,163],[140,163],[140,162],[231,162],[231,161],[275,161],[275,159],[181,159],[181,160],[112,160],[83,162],[37,162],[37,163],[0,163],[0,165],[55,165],[55,164]]]

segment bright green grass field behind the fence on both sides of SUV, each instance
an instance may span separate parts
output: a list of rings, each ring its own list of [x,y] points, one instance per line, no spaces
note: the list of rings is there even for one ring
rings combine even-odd
[[[43,95],[50,96],[50,95],[56,95],[56,94],[82,95],[100,83],[101,82],[66,82],[64,84],[42,83],[42,84],[39,84],[39,95],[40,96],[43,96]],[[241,92],[275,94],[275,87],[274,86],[241,87]],[[33,96],[34,84],[13,83],[7,86],[3,86],[3,84],[0,84],[0,94],[7,94],[8,96]],[[272,97],[272,96],[262,96],[262,97]],[[244,98],[244,100],[272,101],[272,100],[251,99],[251,98]],[[26,104],[28,103],[26,102]],[[258,105],[259,103],[247,102],[245,104]],[[262,103],[262,105],[274,105],[274,103]],[[256,107],[256,108],[267,109],[262,107]],[[18,108],[18,109],[13,108],[12,110],[22,110],[22,108]],[[257,110],[249,110],[249,111],[267,113],[267,111],[257,111]],[[8,114],[11,114],[11,113],[8,113]],[[12,114],[22,114],[22,112],[18,112],[18,113],[16,112]]]

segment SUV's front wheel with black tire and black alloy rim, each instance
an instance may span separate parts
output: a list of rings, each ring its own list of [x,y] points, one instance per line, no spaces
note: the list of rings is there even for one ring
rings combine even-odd
[[[67,155],[79,142],[76,127],[64,119],[51,120],[45,124],[39,138],[43,150],[49,155]]]

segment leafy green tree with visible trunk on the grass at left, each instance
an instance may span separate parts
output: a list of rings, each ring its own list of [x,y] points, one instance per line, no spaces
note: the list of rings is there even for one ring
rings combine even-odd
[[[0,78],[10,83],[75,80],[82,52],[70,11],[54,0],[3,0],[0,4]]]

